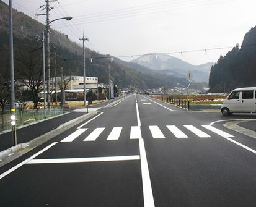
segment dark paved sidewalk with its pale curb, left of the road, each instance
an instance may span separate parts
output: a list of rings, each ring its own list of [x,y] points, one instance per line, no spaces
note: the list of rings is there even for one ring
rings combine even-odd
[[[115,98],[109,101],[109,105],[115,104],[120,98]],[[5,159],[9,154],[23,150],[28,145],[31,147],[38,146],[46,140],[55,137],[58,133],[72,127],[83,120],[97,114],[97,110],[105,107],[106,103],[99,103],[87,109],[81,108],[67,108],[64,114],[43,119],[28,125],[17,127],[17,146],[14,147],[12,131],[0,132],[0,161]]]

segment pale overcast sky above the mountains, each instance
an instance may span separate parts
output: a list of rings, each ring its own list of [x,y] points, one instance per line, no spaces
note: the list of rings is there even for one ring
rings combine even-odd
[[[35,17],[45,12],[40,9],[45,0],[12,2],[15,9],[45,23],[46,16]],[[256,25],[255,0],[58,0],[50,5],[50,20],[73,17],[52,23],[52,28],[77,43],[84,32],[87,47],[130,56],[121,58],[126,61],[154,52],[194,65],[216,62],[231,48],[205,49],[241,46],[245,33]]]

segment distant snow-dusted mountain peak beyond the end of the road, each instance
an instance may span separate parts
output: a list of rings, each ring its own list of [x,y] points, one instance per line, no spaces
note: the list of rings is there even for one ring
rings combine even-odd
[[[203,65],[192,65],[176,57],[166,54],[149,53],[131,62],[136,62],[152,70],[158,70],[166,75],[174,75],[180,78],[187,78],[188,72],[192,73],[193,82],[208,82],[209,72],[213,62]]]

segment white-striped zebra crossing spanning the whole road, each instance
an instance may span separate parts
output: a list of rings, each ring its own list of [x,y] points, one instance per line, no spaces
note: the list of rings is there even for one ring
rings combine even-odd
[[[200,125],[201,128],[205,129],[206,132],[203,132],[203,130],[198,129],[198,127],[195,127],[194,125],[183,125],[180,127],[177,127],[176,125],[166,125],[167,130],[169,133],[162,132],[162,130],[157,125],[151,125],[149,126],[149,131],[151,132],[151,138],[153,139],[165,139],[165,138],[190,138],[190,137],[198,137],[198,138],[211,138],[212,136],[209,135],[209,133],[214,133],[216,135],[219,135],[221,137],[234,137],[233,135],[224,132],[223,130],[219,130],[216,127],[213,127],[212,125]],[[82,136],[83,133],[85,133],[88,129],[87,128],[80,128],[77,129],[75,132],[68,135],[68,137],[61,140],[61,142],[73,142],[77,137]],[[84,142],[94,142],[97,140],[97,138],[100,137],[100,135],[104,132],[105,127],[97,127],[92,132],[89,133],[89,135],[84,136],[83,141]],[[184,132],[185,130],[185,132]],[[111,140],[119,140],[121,136],[121,132],[123,131],[123,127],[113,127],[111,132],[106,135],[107,141]],[[190,134],[190,137],[186,133],[192,132],[193,135]],[[141,133],[141,127],[139,126],[132,126],[130,127],[130,140],[134,139],[140,139],[142,137]]]

